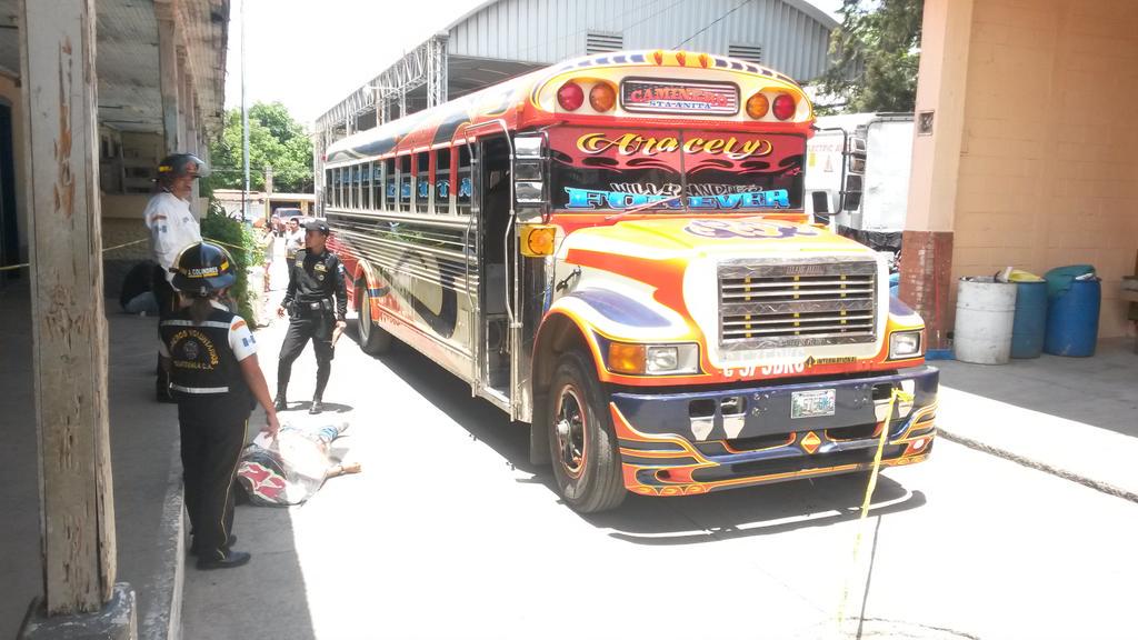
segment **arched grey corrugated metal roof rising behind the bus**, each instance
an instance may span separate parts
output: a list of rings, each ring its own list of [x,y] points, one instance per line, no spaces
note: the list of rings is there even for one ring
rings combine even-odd
[[[758,49],[764,65],[808,81],[825,71],[830,32],[836,26],[806,0],[490,0],[443,32],[447,93],[455,98],[587,55],[591,42],[596,49],[617,41],[625,50],[682,48],[728,55],[733,46]],[[373,110],[371,87],[391,84],[397,65],[341,99],[318,118],[318,126],[333,130],[345,118]],[[428,104],[419,84],[406,87],[409,112]]]

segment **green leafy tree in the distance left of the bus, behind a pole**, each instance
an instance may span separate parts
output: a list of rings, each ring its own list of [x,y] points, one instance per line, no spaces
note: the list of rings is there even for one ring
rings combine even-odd
[[[209,187],[240,189],[245,181],[241,158],[241,110],[225,112],[221,140],[211,147],[214,174]],[[257,102],[249,108],[249,188],[265,188],[265,167],[273,169],[273,190],[312,192],[312,140],[280,102]]]

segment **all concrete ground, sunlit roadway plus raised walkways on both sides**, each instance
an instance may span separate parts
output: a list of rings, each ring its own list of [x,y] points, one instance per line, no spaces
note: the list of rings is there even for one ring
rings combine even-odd
[[[118,577],[138,591],[142,637],[164,638],[183,605],[176,420],[150,395],[155,320],[114,313],[112,301],[108,311]],[[270,384],[282,329],[258,333]],[[333,412],[319,419],[352,421],[337,454],[364,473],[330,481],[303,507],[240,508],[238,547],[254,561],[185,569],[187,638],[816,638],[847,584],[865,638],[1130,634],[1129,344],[1104,343],[1094,359],[938,362],[940,425],[956,442],[884,476],[855,566],[861,487],[842,478],[630,497],[617,512],[580,517],[556,500],[546,469],[528,466],[521,427],[410,350],[372,359],[348,338],[327,395]],[[3,637],[41,588],[30,309],[18,285],[0,290],[0,358]],[[307,400],[313,364],[310,347],[294,400]]]

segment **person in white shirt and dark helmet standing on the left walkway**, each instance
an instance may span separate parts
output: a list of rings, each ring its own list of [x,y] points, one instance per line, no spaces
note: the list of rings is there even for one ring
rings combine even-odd
[[[159,190],[150,198],[142,213],[150,231],[150,252],[158,264],[154,271],[154,295],[158,301],[158,317],[166,319],[174,311],[174,289],[171,266],[185,247],[201,241],[201,228],[190,212],[193,181],[209,174],[206,163],[190,154],[174,154],[158,164]],[[159,402],[173,402],[170,376],[159,366],[155,381],[155,396]]]

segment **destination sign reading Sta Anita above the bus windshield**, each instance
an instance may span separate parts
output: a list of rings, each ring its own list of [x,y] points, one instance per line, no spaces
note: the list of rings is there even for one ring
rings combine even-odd
[[[726,82],[626,80],[620,102],[628,112],[735,115],[739,88]]]

